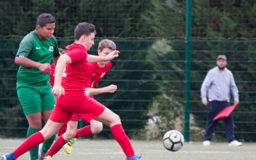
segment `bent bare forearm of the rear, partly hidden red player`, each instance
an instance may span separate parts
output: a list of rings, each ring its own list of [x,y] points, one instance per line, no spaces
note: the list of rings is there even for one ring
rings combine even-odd
[[[102,88],[85,88],[86,95],[98,95],[100,93],[114,93],[117,90],[117,86],[111,84]]]

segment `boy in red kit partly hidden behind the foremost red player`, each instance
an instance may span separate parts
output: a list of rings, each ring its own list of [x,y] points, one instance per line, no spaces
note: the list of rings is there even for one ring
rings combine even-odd
[[[112,40],[104,39],[99,42],[98,46],[98,55],[99,56],[107,56],[110,52],[116,50],[116,44]],[[110,61],[98,62],[98,63],[90,63],[88,74],[90,77],[88,78],[88,88],[86,88],[86,95],[93,98],[93,95],[97,95],[100,93],[114,93],[117,90],[117,86],[111,84],[109,86],[103,88],[95,88],[95,86],[101,81],[101,79],[108,73],[112,64]],[[51,73],[54,74],[54,73]],[[72,121],[77,121],[78,118],[72,116]],[[71,154],[72,145],[76,141],[76,138],[91,136],[93,134],[99,134],[102,131],[102,123],[97,120],[91,120],[90,125],[86,125],[85,127],[78,129],[76,131],[75,138],[72,138],[64,145],[65,151],[67,154]],[[58,131],[58,136],[61,136],[67,130],[67,123],[64,123]],[[51,155],[52,151],[50,149],[49,154]]]

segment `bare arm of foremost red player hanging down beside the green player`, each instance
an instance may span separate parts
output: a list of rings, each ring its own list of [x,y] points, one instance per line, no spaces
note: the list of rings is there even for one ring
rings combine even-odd
[[[52,93],[60,97],[65,94],[64,89],[61,87],[61,79],[66,64],[72,63],[70,56],[63,54],[60,56],[58,63],[55,67],[54,86],[52,87]]]

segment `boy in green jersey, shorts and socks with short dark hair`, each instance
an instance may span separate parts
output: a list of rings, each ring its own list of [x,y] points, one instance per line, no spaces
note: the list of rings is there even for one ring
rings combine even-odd
[[[60,56],[58,43],[52,35],[55,18],[49,13],[39,15],[35,31],[26,35],[19,45],[15,63],[20,65],[17,73],[17,95],[28,120],[27,137],[42,129],[55,104],[51,93],[51,61],[56,63]],[[30,159],[44,159],[44,153],[51,147],[53,136],[42,145],[42,158],[38,157],[38,146],[31,149]]]

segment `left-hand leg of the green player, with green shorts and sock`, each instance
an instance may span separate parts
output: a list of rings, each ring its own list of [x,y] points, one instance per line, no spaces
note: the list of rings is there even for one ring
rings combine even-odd
[[[17,95],[28,120],[27,138],[42,129],[41,97],[36,88],[19,87]],[[38,146],[29,150],[30,159],[38,158]]]

